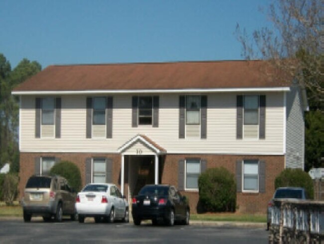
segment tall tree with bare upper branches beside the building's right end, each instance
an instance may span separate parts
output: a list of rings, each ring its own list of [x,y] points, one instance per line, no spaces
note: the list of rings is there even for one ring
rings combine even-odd
[[[282,74],[295,77],[297,85],[307,91],[311,111],[305,117],[306,170],[324,167],[321,164],[324,157],[322,4],[322,0],[272,0],[267,12],[271,27],[255,30],[252,38],[239,24],[236,27],[244,58],[271,61]]]

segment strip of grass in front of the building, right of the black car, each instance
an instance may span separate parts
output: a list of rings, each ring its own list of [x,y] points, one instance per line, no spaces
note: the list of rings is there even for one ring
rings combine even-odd
[[[190,220],[266,223],[266,214],[206,213],[191,214]]]

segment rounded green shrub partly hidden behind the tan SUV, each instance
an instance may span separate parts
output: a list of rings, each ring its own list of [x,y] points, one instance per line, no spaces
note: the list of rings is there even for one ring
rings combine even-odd
[[[81,173],[78,166],[70,161],[56,163],[50,170],[51,175],[60,175],[67,179],[69,185],[75,191],[81,190]]]

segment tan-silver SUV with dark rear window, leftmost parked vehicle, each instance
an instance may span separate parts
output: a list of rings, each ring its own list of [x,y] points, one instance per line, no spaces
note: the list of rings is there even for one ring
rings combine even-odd
[[[31,216],[42,216],[44,221],[54,217],[61,222],[63,215],[76,218],[76,192],[60,176],[31,176],[22,198],[23,220],[30,222]]]

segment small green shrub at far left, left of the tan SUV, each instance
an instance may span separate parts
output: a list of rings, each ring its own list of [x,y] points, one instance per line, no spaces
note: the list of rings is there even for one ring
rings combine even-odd
[[[7,206],[12,206],[13,201],[18,195],[18,182],[19,178],[16,173],[7,173],[4,175],[1,185],[3,200]]]

